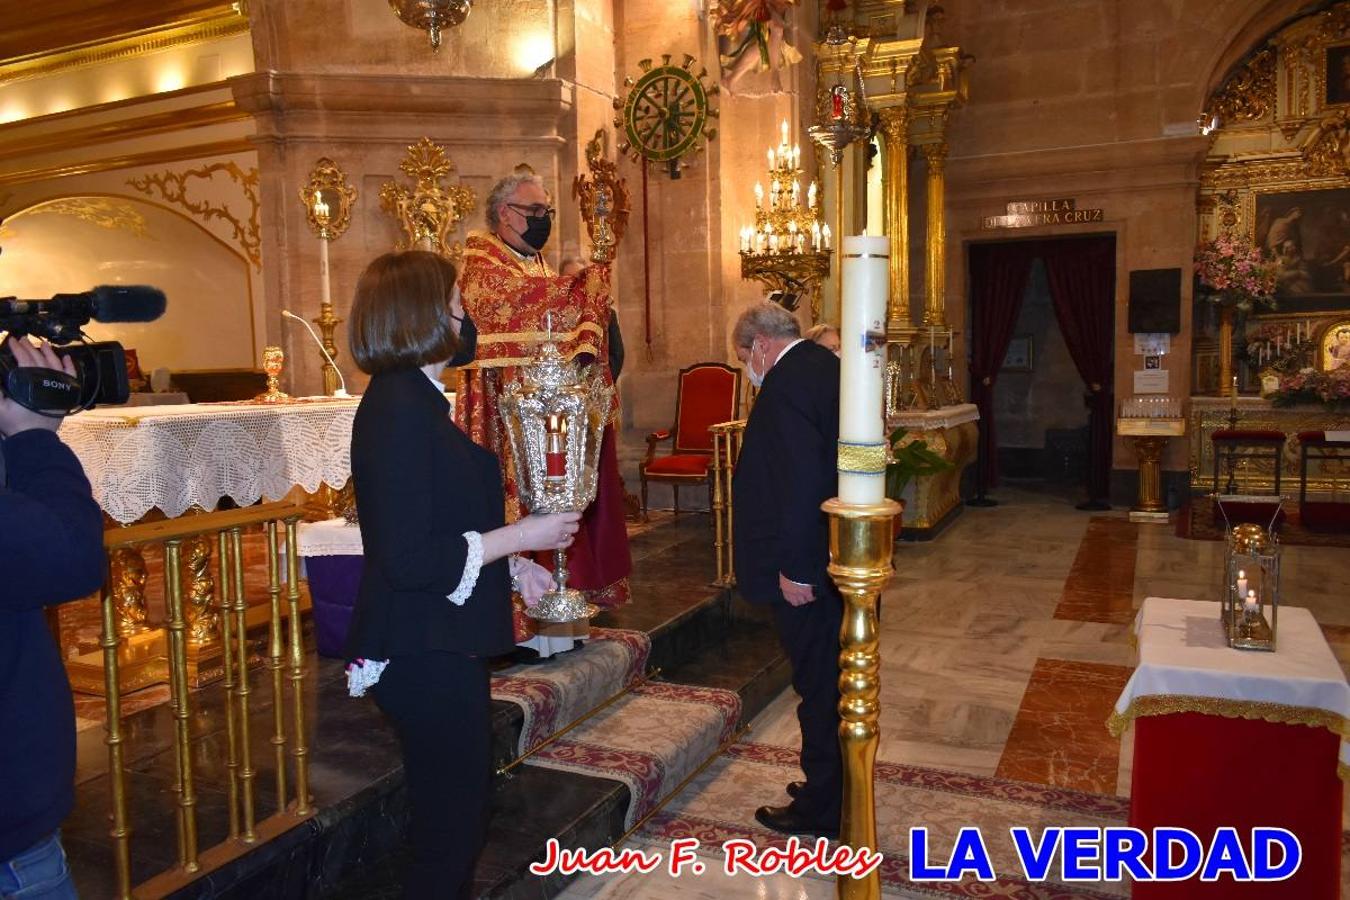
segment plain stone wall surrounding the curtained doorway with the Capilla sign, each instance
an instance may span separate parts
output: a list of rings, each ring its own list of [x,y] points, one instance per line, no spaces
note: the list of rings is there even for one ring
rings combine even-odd
[[[965,247],[975,240],[1116,236],[1116,397],[1138,366],[1127,333],[1129,273],[1188,270],[1196,240],[1197,116],[1227,67],[1301,5],[1295,0],[990,0],[948,11],[946,38],[975,55],[971,103],[952,116],[948,312],[964,328]],[[1073,197],[1094,225],[981,231],[1008,200]],[[1189,394],[1191,286],[1173,337],[1173,395]],[[1133,468],[1118,440],[1115,466]],[[1164,467],[1185,467],[1173,441]]]

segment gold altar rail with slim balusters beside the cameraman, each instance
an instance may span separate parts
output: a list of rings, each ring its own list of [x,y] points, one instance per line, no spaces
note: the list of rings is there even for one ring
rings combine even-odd
[[[169,633],[169,691],[174,718],[174,816],[178,833],[178,862],[148,881],[131,887],[131,823],[127,815],[127,777],[123,766],[122,687],[119,665],[119,615],[109,578],[101,592],[104,679],[108,698],[108,777],[112,785],[113,857],[116,861],[116,896],[162,897],[207,872],[247,853],[259,841],[269,839],[313,814],[309,797],[309,750],[305,746],[304,719],[304,653],[300,622],[300,556],[296,552],[296,525],[301,507],[289,503],[263,503],[240,510],[207,513],[162,522],[146,522],[104,534],[109,551],[163,544],[165,592]],[[248,636],[244,602],[243,530],[263,526],[267,536],[267,592],[270,603],[266,668],[271,676],[273,735],[275,753],[277,810],[256,820],[254,804],[254,761],[250,749],[248,722]],[[278,526],[285,529],[285,551],[278,552]],[[224,657],[225,735],[228,770],[230,837],[205,850],[197,845],[197,795],[193,784],[192,692],[188,687],[188,634],[184,617],[181,573],[185,540],[213,536],[219,544],[220,583],[216,613],[220,618]],[[290,621],[289,641],[282,634],[281,567],[286,572],[286,611]],[[286,734],[285,681],[290,681],[290,729]],[[294,769],[294,801],[288,803],[288,764]]]

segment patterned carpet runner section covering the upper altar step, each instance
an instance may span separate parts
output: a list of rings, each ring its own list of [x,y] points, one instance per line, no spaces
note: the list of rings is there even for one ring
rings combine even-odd
[[[633,684],[651,652],[652,638],[643,631],[593,627],[578,650],[494,675],[493,699],[514,703],[525,714],[516,753],[524,756]]]

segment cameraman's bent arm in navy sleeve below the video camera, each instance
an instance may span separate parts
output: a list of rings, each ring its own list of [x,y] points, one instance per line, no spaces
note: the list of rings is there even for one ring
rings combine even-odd
[[[4,440],[8,488],[0,490],[0,607],[63,603],[103,584],[103,513],[80,460],[55,432]]]

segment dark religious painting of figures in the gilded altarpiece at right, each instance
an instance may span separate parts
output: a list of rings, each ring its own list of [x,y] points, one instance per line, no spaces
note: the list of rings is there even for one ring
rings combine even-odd
[[[1258,194],[1256,240],[1281,312],[1350,306],[1350,189]]]

